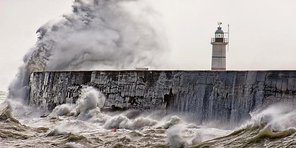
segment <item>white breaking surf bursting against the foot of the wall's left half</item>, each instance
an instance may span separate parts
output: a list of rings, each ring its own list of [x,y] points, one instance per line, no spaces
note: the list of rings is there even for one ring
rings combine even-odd
[[[77,116],[82,121],[99,121],[104,123],[105,128],[126,128],[139,129],[144,126],[157,124],[156,120],[149,117],[138,117],[134,120],[129,119],[124,114],[109,116],[101,113],[99,103],[105,100],[105,96],[92,87],[82,89],[81,96],[76,104],[62,104],[49,114],[52,116]]]

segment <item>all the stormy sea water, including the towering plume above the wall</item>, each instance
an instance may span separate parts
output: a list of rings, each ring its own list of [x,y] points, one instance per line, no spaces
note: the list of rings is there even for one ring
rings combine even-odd
[[[36,46],[24,56],[9,86],[10,96],[27,99],[23,94],[29,91],[33,71],[165,67],[160,61],[168,49],[164,28],[157,11],[143,1],[76,0],[72,7],[60,21],[38,29]],[[8,100],[0,92],[0,148],[296,147],[294,106],[289,111],[270,106],[251,113],[239,128],[223,130],[227,125],[195,125],[186,121],[190,116],[166,110],[103,112],[105,99],[92,88],[82,92],[77,104],[63,104],[52,112],[27,106],[24,100]]]

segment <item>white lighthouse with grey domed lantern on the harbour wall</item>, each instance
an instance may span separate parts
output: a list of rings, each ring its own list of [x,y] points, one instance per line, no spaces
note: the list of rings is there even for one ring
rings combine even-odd
[[[226,45],[227,38],[224,38],[224,32],[221,28],[222,23],[218,23],[218,29],[215,32],[215,38],[212,38],[212,68],[211,70],[226,70]]]

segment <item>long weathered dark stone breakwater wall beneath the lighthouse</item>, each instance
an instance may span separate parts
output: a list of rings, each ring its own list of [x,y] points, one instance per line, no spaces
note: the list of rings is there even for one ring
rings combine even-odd
[[[105,94],[104,106],[168,109],[197,122],[237,123],[255,109],[296,102],[296,70],[121,70],[34,72],[29,104],[52,110],[75,103],[85,86]]]

